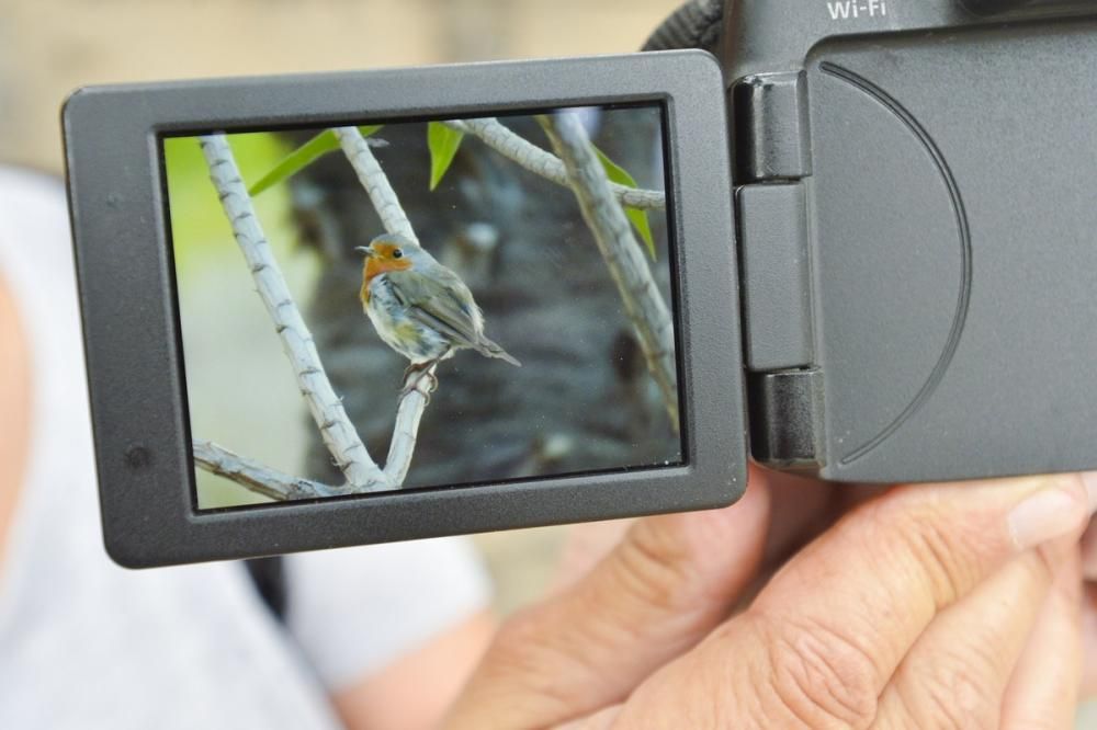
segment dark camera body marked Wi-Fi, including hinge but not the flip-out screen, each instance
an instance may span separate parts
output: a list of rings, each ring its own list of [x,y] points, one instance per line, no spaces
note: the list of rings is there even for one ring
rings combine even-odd
[[[755,458],[1097,467],[1095,3],[839,4],[728,5]]]

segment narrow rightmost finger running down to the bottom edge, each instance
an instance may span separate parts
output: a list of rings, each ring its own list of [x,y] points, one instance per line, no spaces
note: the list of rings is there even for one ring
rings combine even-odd
[[[1074,727],[1082,678],[1082,571],[1077,545],[1049,546],[1054,582],[1002,704],[1002,730]]]

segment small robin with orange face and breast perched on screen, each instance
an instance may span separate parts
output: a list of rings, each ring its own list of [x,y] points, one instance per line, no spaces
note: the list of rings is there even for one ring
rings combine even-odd
[[[411,361],[409,374],[429,373],[466,347],[521,367],[485,337],[484,315],[461,277],[422,247],[385,233],[355,250],[365,254],[359,292],[362,309],[385,344]]]

